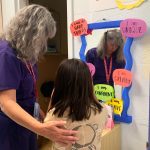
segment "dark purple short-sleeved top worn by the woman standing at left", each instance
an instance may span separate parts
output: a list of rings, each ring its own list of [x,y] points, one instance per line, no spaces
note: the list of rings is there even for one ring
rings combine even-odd
[[[33,67],[37,77],[37,67]],[[17,103],[33,116],[33,78],[7,41],[0,41],[0,91],[16,89]],[[19,113],[19,112],[18,112]],[[0,150],[37,150],[37,138],[0,111]]]

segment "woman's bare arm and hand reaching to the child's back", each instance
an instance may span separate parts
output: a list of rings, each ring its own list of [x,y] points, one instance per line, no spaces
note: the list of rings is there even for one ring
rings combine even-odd
[[[0,108],[19,125],[59,143],[74,143],[76,131],[64,129],[64,121],[40,123],[16,103],[15,90],[0,92]]]

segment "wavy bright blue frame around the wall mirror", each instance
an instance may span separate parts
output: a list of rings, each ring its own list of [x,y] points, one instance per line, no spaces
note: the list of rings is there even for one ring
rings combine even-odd
[[[91,24],[88,24],[88,30],[118,28],[118,27],[120,27],[121,21],[122,20],[91,23]],[[82,61],[86,61],[86,59],[85,59],[85,50],[86,50],[86,46],[87,46],[86,35],[81,35],[80,38],[81,38],[82,44],[81,44],[79,56]],[[133,65],[132,55],[131,55],[131,51],[130,51],[132,42],[133,42],[133,38],[127,37],[125,45],[124,45],[124,49],[123,49],[124,56],[126,59],[125,69],[128,71],[131,71],[132,65]],[[127,113],[129,105],[130,105],[130,97],[129,97],[130,88],[131,88],[131,86],[123,88],[123,91],[122,91],[123,111],[122,111],[121,116],[114,115],[114,120],[116,122],[124,122],[124,123],[132,122],[132,116],[129,116]]]

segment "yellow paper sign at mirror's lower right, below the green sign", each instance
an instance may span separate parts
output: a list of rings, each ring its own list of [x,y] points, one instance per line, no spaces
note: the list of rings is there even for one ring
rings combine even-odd
[[[123,110],[123,100],[113,98],[112,100],[106,102],[106,104],[112,106],[114,114],[121,116]]]

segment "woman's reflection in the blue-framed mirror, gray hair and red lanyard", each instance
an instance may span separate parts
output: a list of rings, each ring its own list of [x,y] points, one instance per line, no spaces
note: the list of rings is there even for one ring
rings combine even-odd
[[[120,30],[113,29],[104,32],[98,47],[88,50],[86,61],[95,66],[93,82],[114,86],[112,73],[115,69],[125,67],[123,55],[124,40]]]

